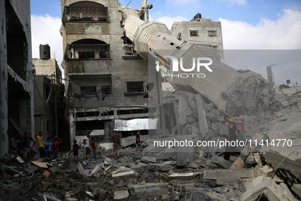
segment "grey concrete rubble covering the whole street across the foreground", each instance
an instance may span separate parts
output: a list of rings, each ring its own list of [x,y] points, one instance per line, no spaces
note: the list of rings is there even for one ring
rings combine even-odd
[[[189,93],[177,95],[191,98]],[[191,95],[191,94],[190,94]],[[274,114],[234,117],[245,122],[238,139],[292,140],[285,149],[266,145],[245,146],[240,154],[224,159],[219,147],[195,147],[179,154],[176,147],[155,147],[154,140],[142,137],[143,153],[135,154],[134,141],[123,138],[120,157],[112,148],[97,144],[96,160],[85,160],[84,147],[79,148],[80,161],[73,160],[72,150],[60,152],[57,160],[7,155],[1,160],[1,200],[297,200],[301,197],[300,99],[288,104],[278,102]],[[192,103],[192,104],[191,104]],[[186,109],[186,129],[198,125],[198,110],[191,102]],[[197,103],[197,102],[196,102]],[[284,104],[284,105],[281,105]],[[227,123],[221,111],[204,102],[208,131],[193,135],[200,139],[223,140]],[[189,112],[190,111],[190,112]],[[194,112],[193,112],[194,111]],[[190,127],[189,127],[190,126]],[[193,132],[194,133],[194,132]],[[166,136],[166,137],[164,137]],[[145,138],[146,137],[146,138]],[[171,140],[161,133],[160,140]],[[107,143],[106,143],[107,144]],[[274,150],[272,150],[274,149]],[[191,156],[193,158],[191,158]],[[190,158],[189,158],[190,157]],[[188,160],[189,159],[189,160]]]

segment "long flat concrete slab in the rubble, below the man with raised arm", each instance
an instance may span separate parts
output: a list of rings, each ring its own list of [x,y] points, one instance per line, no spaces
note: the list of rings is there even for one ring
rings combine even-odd
[[[250,169],[215,169],[215,170],[204,170],[204,179],[216,180],[218,185],[233,185],[238,182],[241,178],[254,178],[255,170]]]

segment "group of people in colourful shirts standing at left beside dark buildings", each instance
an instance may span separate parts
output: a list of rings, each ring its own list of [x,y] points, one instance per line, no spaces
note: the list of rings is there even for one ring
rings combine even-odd
[[[57,136],[53,138],[53,141],[50,141],[50,138],[47,138],[46,142],[43,142],[43,132],[39,132],[39,136],[35,134],[35,138],[38,141],[40,158],[51,158],[53,154],[53,160],[57,159],[59,153],[59,144],[62,142],[61,138],[58,141]],[[31,145],[33,142],[33,145]],[[29,133],[26,131],[24,135],[16,133],[14,137],[9,139],[9,153],[18,154],[19,156],[27,155],[30,160],[34,160],[37,150],[35,149],[36,140],[29,136]]]

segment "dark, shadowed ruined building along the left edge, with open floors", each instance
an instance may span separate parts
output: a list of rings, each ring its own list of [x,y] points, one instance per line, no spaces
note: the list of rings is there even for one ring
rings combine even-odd
[[[15,133],[34,136],[34,91],[30,1],[0,2],[0,111],[1,149]]]

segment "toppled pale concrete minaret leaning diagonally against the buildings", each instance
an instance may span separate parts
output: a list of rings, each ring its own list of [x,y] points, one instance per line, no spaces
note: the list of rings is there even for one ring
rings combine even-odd
[[[147,9],[147,5],[145,8]],[[122,7],[122,16],[126,37],[135,44],[135,50],[143,59],[151,61],[158,56],[166,58],[166,78],[174,88],[206,94],[218,107],[232,115],[254,114],[268,109],[269,102],[273,99],[271,87],[256,72],[237,71],[222,63],[220,55],[206,42],[179,41],[170,35],[165,24],[144,21],[135,9]],[[171,70],[174,62],[168,56],[182,64],[182,67],[176,66],[176,74]],[[200,71],[197,68],[190,71],[191,66],[198,66],[197,58],[203,58],[199,61],[201,63],[208,63],[204,60],[211,59],[212,71],[204,66],[199,68]],[[155,61],[149,64],[155,68]],[[204,76],[196,76],[200,72]],[[181,77],[182,74],[184,76]]]

